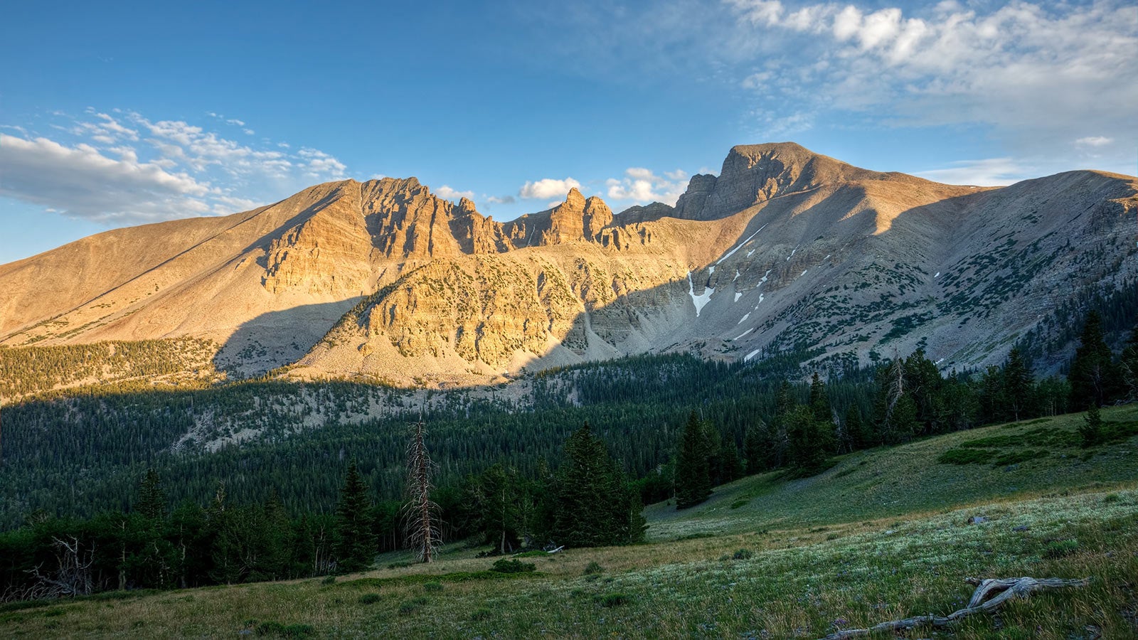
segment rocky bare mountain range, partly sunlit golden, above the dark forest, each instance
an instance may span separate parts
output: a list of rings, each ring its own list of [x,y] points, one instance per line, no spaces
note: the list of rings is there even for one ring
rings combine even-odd
[[[794,143],[617,214],[574,189],[497,222],[414,178],[346,180],[0,265],[0,345],[193,337],[231,375],[428,386],[646,352],[982,367],[1131,281],[1136,213],[1132,177],[948,186]]]

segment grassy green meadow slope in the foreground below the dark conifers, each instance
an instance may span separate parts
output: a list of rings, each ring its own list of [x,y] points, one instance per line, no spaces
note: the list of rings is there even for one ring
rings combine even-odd
[[[1104,417],[1131,429],[1138,407]],[[851,454],[813,478],[744,478],[694,509],[649,507],[645,544],[522,558],[535,573],[487,572],[493,560],[452,545],[430,566],[335,583],[6,605],[0,635],[819,638],[960,608],[966,576],[1030,575],[1091,585],[914,637],[1138,638],[1138,437],[1085,451],[1080,420]],[[987,462],[937,461],[979,449]]]

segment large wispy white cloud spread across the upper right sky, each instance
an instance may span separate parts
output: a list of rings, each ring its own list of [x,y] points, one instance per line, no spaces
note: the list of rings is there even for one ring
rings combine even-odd
[[[954,1],[905,10],[725,3],[752,38],[785,36],[784,48],[808,39],[816,60],[740,74],[757,113],[835,108],[900,124],[984,123],[1040,147],[1087,136],[1087,123],[1138,136],[1138,11],[1123,0],[1013,0],[989,10]]]

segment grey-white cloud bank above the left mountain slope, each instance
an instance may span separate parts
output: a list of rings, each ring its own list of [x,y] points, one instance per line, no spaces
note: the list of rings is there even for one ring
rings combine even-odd
[[[6,129],[19,137],[0,134],[0,197],[73,218],[135,224],[234,213],[318,180],[341,179],[347,169],[319,149],[239,143],[197,124],[134,112],[50,115],[50,137],[13,125]]]

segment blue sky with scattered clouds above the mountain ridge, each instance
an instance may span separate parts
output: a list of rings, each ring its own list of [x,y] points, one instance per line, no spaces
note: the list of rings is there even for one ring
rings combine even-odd
[[[1135,174],[1132,2],[22,2],[0,263],[418,177],[497,220],[674,202],[737,143],[956,183]]]

